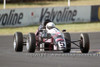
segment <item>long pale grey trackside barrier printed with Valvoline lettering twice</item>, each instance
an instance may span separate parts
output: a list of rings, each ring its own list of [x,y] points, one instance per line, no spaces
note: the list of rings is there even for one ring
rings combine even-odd
[[[0,10],[0,27],[37,25],[50,19],[60,23],[90,22],[91,6],[42,7]]]

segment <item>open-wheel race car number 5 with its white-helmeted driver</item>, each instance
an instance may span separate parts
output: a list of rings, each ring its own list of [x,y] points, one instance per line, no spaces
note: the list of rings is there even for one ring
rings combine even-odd
[[[51,22],[50,22],[51,23]],[[16,52],[23,51],[25,45],[27,51],[34,53],[38,51],[63,51],[69,53],[71,51],[71,43],[79,47],[82,53],[89,52],[89,36],[87,33],[80,34],[80,39],[71,41],[70,34],[66,30],[60,31],[54,26],[53,23],[48,23],[46,28],[38,30],[36,33],[29,33],[26,37],[23,37],[21,32],[14,34],[14,50]],[[79,42],[79,44],[76,44]]]

